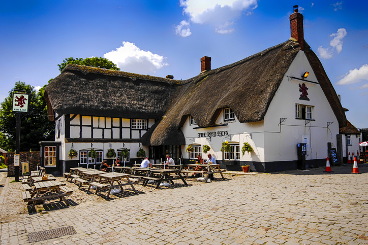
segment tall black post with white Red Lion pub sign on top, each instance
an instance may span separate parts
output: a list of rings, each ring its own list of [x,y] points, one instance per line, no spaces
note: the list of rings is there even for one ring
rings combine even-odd
[[[13,93],[13,108],[16,116],[16,130],[15,130],[15,152],[14,152],[14,170],[15,181],[19,181],[19,153],[20,153],[20,120],[22,113],[28,113],[28,100],[29,94],[26,94],[24,90],[14,90]],[[17,153],[17,154],[15,154]],[[18,165],[16,166],[15,156],[18,155]]]

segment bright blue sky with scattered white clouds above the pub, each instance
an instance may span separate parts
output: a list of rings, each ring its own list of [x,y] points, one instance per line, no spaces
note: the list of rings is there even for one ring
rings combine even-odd
[[[2,1],[0,101],[17,81],[42,87],[68,57],[188,79],[203,56],[213,69],[288,40],[294,5],[347,119],[368,128],[368,1]]]

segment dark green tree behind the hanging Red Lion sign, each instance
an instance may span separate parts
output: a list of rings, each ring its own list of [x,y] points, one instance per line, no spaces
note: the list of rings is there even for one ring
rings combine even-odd
[[[38,150],[40,141],[50,141],[54,138],[54,122],[48,120],[46,101],[43,97],[45,86],[36,92],[34,87],[18,81],[13,88],[25,90],[29,94],[28,113],[23,114],[21,119],[20,151]],[[13,90],[1,103],[0,109],[0,131],[7,136],[8,151],[15,149],[16,118],[12,112]]]

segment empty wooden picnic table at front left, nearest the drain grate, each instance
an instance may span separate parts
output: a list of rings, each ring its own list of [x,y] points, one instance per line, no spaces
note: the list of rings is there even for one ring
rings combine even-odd
[[[36,204],[40,204],[39,202],[43,202],[48,198],[59,197],[60,201],[64,201],[65,204],[69,205],[69,202],[65,198],[67,195],[73,194],[72,190],[69,190],[65,187],[64,183],[57,181],[43,181],[43,182],[35,182],[35,187],[33,191],[24,191],[23,201],[28,202],[27,205],[31,205],[30,209],[32,210]]]

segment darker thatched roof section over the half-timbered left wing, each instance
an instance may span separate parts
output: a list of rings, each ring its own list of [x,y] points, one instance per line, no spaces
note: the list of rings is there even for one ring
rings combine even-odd
[[[69,64],[46,87],[49,115],[161,119],[180,81]],[[53,120],[53,118],[50,118]]]

